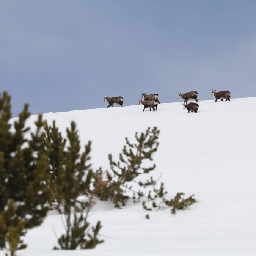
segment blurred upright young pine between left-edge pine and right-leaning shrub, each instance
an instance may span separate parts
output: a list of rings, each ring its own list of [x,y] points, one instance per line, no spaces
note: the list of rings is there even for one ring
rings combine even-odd
[[[92,228],[90,234],[87,221],[88,212],[93,203],[90,185],[93,177],[90,160],[91,141],[85,146],[85,151],[80,153],[80,140],[75,123],[71,123],[71,129],[67,129],[68,146],[64,149],[66,141],[53,123],[47,127],[46,134],[48,147],[52,160],[52,184],[55,190],[55,200],[58,203],[59,212],[65,216],[66,234],[58,239],[61,249],[74,250],[94,248],[103,240],[98,239],[100,222]],[[55,144],[55,145],[52,145]],[[79,199],[86,195],[88,200]],[[85,214],[83,212],[86,211]],[[71,217],[73,216],[73,220]],[[56,248],[56,247],[55,247]]]

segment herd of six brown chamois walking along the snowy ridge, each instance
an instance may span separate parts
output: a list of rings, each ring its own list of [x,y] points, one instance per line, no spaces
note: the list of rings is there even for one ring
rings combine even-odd
[[[188,93],[178,93],[179,94],[179,99],[184,99],[183,102],[183,109],[187,108],[188,113],[191,112],[195,112],[197,113],[198,107],[199,105],[197,104],[198,100],[197,100],[197,96],[198,96],[198,92],[197,91],[190,91]],[[216,90],[212,89],[212,93],[211,95],[213,95],[215,97],[215,102],[220,99],[221,101],[223,101],[223,99],[226,99],[226,101],[230,101],[230,91],[219,91],[218,93],[216,92]],[[144,98],[144,101],[142,100]],[[196,103],[194,102],[190,102],[187,104],[187,101],[193,99],[196,101]],[[119,104],[122,107],[124,106],[124,98],[119,96],[119,97],[107,97],[104,95],[104,102],[108,102],[108,107],[113,107],[113,104]],[[151,108],[153,108],[153,111],[157,110],[157,105],[160,103],[158,100],[158,94],[146,94],[146,93],[142,93],[141,99],[138,99],[139,101],[139,105],[143,105],[143,111],[145,110],[145,108],[149,108],[149,110],[151,111]],[[143,112],[142,111],[142,112]]]

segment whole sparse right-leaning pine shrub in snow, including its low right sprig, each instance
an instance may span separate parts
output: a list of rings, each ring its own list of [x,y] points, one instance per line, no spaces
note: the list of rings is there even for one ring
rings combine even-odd
[[[144,160],[152,161],[152,155],[157,151],[158,148],[158,136],[159,130],[157,127],[152,129],[148,128],[146,132],[135,133],[136,143],[130,143],[126,138],[126,145],[124,145],[122,152],[119,154],[119,161],[115,162],[112,155],[108,155],[110,163],[110,172],[106,172],[107,181],[105,183],[98,182],[95,177],[102,176],[103,171],[100,168],[97,170],[97,175],[94,177],[94,194],[97,195],[101,200],[112,200],[115,207],[124,206],[129,199],[127,190],[133,192],[133,199],[148,198],[148,200],[154,200],[161,198],[159,206],[156,202],[152,202],[152,207],[160,209],[161,203],[165,203],[166,206],[172,207],[171,212],[175,213],[176,209],[185,209],[189,205],[195,202],[193,195],[189,198],[184,199],[184,193],[177,193],[173,199],[166,199],[166,191],[164,190],[164,184],[161,183],[159,189],[155,188],[157,180],[150,177],[146,181],[138,180],[141,174],[147,174],[153,171],[156,165],[152,165],[148,168],[142,167]],[[140,185],[142,188],[139,191],[133,190],[132,182]],[[152,186],[152,191],[146,193],[143,189]],[[152,198],[151,193],[154,193]],[[152,210],[152,208],[146,206],[146,202],[143,201],[142,206],[145,210]]]

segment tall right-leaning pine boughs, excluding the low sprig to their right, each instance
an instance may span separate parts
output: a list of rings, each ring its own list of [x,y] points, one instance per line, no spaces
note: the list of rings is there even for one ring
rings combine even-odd
[[[153,160],[152,154],[157,151],[159,143],[157,142],[159,130],[154,127],[148,128],[146,132],[135,133],[136,143],[130,143],[126,138],[126,145],[122,152],[119,154],[119,161],[115,162],[112,155],[108,155],[110,162],[110,170],[112,173],[107,172],[107,184],[98,183],[98,179],[94,180],[95,195],[101,200],[111,199],[115,207],[124,206],[129,199],[126,195],[126,190],[131,190],[134,194],[133,198],[141,198],[144,195],[143,191],[134,191],[130,182],[137,182],[142,188],[149,185],[154,185],[155,181],[152,177],[146,182],[137,181],[138,176],[141,174],[149,173],[155,169],[155,165],[151,167],[142,167],[143,160]],[[102,169],[97,170],[97,177],[102,175]],[[97,185],[96,185],[97,183]]]

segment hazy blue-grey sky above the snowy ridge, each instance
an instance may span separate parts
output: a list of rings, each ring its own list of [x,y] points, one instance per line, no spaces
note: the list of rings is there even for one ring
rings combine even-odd
[[[1,0],[0,33],[13,116],[24,102],[33,114],[107,107],[103,94],[256,96],[255,0]]]

